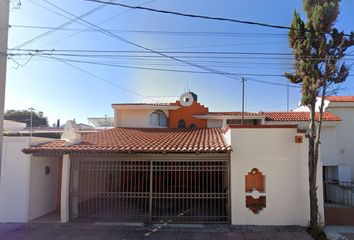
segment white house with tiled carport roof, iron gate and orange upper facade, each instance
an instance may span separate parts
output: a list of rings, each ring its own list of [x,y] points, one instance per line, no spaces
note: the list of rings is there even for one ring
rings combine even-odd
[[[212,113],[194,93],[113,104],[114,128],[23,149],[51,161],[62,222],[302,225],[309,221],[308,113]],[[326,124],[340,119],[327,113]],[[318,168],[321,182],[322,166]],[[323,216],[322,185],[318,186]],[[60,201],[58,201],[60,199]],[[291,206],[290,206],[290,205]]]

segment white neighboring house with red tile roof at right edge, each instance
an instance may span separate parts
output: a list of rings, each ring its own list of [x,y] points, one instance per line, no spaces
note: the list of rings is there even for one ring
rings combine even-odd
[[[320,106],[318,98],[316,110]],[[301,106],[294,111],[308,111]],[[354,182],[354,96],[328,96],[324,100],[324,114],[335,114],[342,121],[322,132],[321,160],[324,180]]]

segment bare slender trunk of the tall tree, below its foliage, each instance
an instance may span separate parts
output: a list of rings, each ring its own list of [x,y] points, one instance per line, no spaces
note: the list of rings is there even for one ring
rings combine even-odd
[[[318,227],[318,204],[317,204],[317,162],[316,158],[316,97],[311,100],[310,108],[310,127],[309,127],[309,196],[310,196],[310,229],[315,230]]]

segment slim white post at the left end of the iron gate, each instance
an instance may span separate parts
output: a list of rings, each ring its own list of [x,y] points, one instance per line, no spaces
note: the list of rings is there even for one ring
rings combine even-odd
[[[61,179],[61,206],[60,221],[69,221],[69,188],[70,188],[70,157],[69,154],[63,155],[63,170]]]

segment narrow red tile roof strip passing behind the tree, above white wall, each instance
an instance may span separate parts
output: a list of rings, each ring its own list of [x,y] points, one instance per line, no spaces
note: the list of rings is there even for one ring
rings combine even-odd
[[[307,122],[310,120],[310,112],[265,112],[266,121],[275,122]],[[316,113],[318,119],[319,114]],[[335,122],[341,121],[340,117],[331,112],[323,113],[323,121]]]

